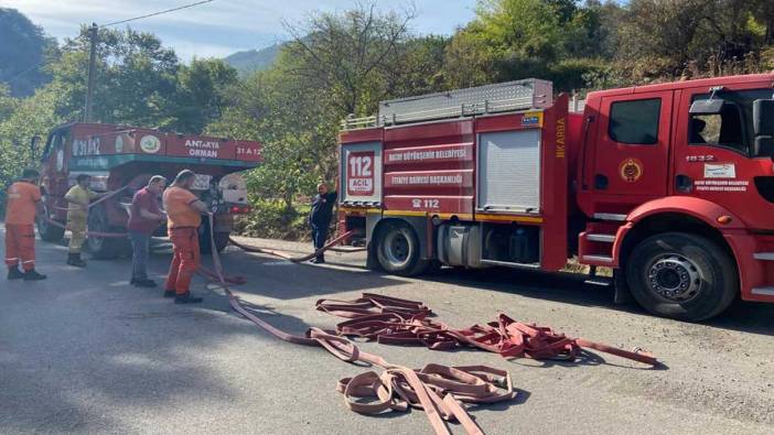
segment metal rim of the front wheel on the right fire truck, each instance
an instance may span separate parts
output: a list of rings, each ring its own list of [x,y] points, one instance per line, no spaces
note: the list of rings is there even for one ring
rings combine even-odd
[[[647,285],[667,302],[688,302],[701,293],[703,274],[689,258],[668,253],[655,258],[647,268]]]

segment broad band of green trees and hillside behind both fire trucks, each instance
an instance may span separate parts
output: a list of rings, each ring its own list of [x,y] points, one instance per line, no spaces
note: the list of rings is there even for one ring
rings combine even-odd
[[[418,35],[412,22],[368,4],[316,13],[289,29],[271,67],[241,78],[222,61],[182,65],[151,34],[100,31],[96,116],[262,141],[247,229],[293,237],[299,196],[335,175],[340,120],[380,99],[526,77],[584,93],[774,69],[771,0],[481,0],[451,36]],[[78,119],[86,62],[82,31],[49,57],[51,81],[34,95],[0,91],[3,181],[29,163],[32,133]]]

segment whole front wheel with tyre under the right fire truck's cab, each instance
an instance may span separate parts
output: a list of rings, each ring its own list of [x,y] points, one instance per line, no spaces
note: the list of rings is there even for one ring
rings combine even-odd
[[[684,232],[656,235],[637,244],[626,282],[645,309],[687,322],[720,314],[739,292],[729,254],[705,237]]]

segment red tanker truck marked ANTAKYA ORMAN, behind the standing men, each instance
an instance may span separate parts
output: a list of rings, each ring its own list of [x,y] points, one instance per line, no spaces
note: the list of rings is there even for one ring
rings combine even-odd
[[[33,140],[33,149],[36,141]],[[33,151],[34,152],[34,151]],[[92,176],[92,188],[107,192],[125,188],[120,195],[89,211],[89,232],[126,231],[127,210],[133,193],[153,175],[172,180],[184,168],[196,173],[194,192],[215,213],[215,244],[228,243],[234,215],[250,211],[247,187],[237,172],[258,165],[258,142],[168,133],[159,130],[100,123],[68,123],[49,134],[41,157],[41,189],[46,215],[65,222],[64,195],[79,174]],[[42,217],[37,229],[46,241],[58,241],[64,229]],[[209,252],[208,227],[201,228],[203,252]],[[165,235],[165,228],[157,236]],[[97,258],[112,258],[128,251],[126,238],[89,236],[86,248]]]

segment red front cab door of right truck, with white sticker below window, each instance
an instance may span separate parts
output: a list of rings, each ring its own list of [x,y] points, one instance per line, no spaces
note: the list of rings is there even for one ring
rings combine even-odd
[[[679,105],[674,152],[675,195],[696,196],[733,211],[749,227],[774,228],[772,157],[756,150],[753,102],[770,99],[771,81],[686,89]],[[722,102],[712,112],[690,112],[697,100]]]

